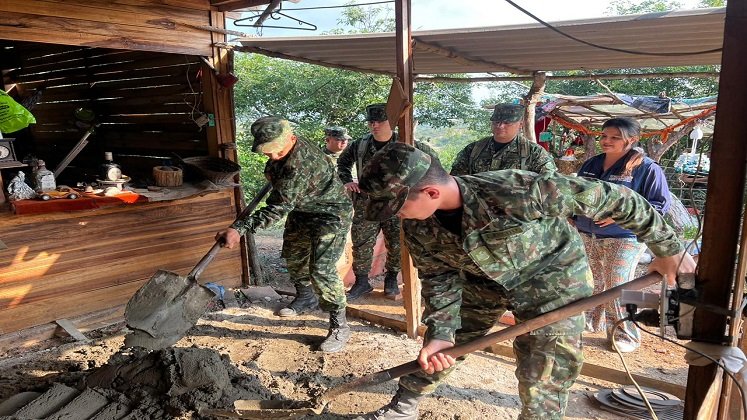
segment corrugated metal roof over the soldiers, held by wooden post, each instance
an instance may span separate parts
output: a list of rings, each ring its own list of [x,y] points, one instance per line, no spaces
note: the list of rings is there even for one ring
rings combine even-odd
[[[584,41],[649,53],[721,48],[725,8],[555,22]],[[541,24],[414,31],[414,72],[531,73],[720,64],[721,53],[685,56],[633,55],[584,45]],[[395,74],[394,33],[314,37],[245,38],[241,51],[326,66]]]

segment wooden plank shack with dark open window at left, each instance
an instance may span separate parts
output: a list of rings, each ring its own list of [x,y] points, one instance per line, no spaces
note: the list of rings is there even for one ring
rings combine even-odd
[[[28,179],[32,168],[18,164],[28,156],[54,169],[91,125],[58,184],[95,181],[104,152],[139,187],[177,156],[235,161],[232,93],[216,78],[232,57],[213,48],[225,41],[224,23],[210,0],[0,2],[2,89],[36,118],[5,133],[16,163],[0,162],[2,179],[19,170]],[[236,217],[241,194],[224,185],[169,200],[83,197],[25,207],[4,198],[0,348],[51,337],[55,320],[86,329],[121,317],[156,270],[189,272]],[[202,279],[238,286],[247,276],[239,253],[223,250]]]

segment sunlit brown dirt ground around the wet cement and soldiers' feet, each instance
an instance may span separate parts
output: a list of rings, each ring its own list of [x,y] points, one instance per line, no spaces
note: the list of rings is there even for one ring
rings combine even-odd
[[[274,285],[290,287],[280,258],[281,236],[277,231],[256,237],[264,266]],[[379,279],[380,281],[380,279]],[[376,287],[376,285],[375,285]],[[378,284],[381,288],[381,284]],[[308,400],[324,389],[415,358],[420,343],[405,335],[353,319],[353,336],[337,354],[322,354],[316,346],[326,334],[327,317],[321,311],[298,318],[274,315],[290,301],[249,302],[237,293],[241,308],[209,312],[180,340],[177,347],[210,350],[223,356],[231,369],[232,395],[245,399]],[[401,302],[378,297],[356,302],[369,311],[401,316]],[[92,370],[106,364],[120,350],[123,324],[89,332],[88,344],[67,341],[45,343],[45,347],[15,349],[0,355],[0,401],[27,390],[43,390],[53,382],[76,383]],[[611,352],[602,334],[585,336],[588,363],[623,370],[616,353]],[[651,336],[644,336],[641,349],[625,355],[633,373],[669,383],[685,385],[687,366],[683,350]],[[235,368],[235,369],[234,369]],[[509,419],[519,413],[517,381],[513,360],[490,353],[470,356],[448,382],[421,404],[421,419]],[[619,385],[582,376],[572,389],[567,419],[619,419],[591,401],[593,393]],[[396,389],[396,382],[361,389],[342,395],[329,406],[323,419],[352,418],[385,404]],[[226,404],[225,401],[220,402]],[[220,407],[213,407],[220,408]],[[228,408],[228,407],[225,407]],[[205,418],[189,407],[173,418]]]

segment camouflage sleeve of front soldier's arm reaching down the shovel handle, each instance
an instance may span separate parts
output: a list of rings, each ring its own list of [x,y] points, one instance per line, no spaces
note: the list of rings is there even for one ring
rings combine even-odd
[[[456,330],[461,326],[459,271],[434,258],[417,240],[406,236],[405,243],[421,276],[421,296],[425,302],[423,322],[428,326],[425,341],[436,339],[453,343]]]

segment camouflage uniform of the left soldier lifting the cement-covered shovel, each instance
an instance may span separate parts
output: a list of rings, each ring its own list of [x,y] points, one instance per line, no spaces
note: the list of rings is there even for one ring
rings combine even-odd
[[[345,249],[352,205],[333,162],[298,139],[288,156],[265,165],[272,184],[267,205],[231,225],[243,234],[262,229],[287,215],[282,256],[296,285],[311,285],[324,311],[345,308],[345,287],[336,264]]]

